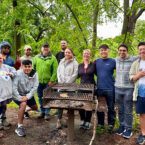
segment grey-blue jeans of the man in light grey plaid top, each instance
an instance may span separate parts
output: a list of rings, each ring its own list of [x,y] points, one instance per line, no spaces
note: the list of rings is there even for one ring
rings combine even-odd
[[[120,126],[132,129],[133,88],[115,88],[115,100],[118,106]]]

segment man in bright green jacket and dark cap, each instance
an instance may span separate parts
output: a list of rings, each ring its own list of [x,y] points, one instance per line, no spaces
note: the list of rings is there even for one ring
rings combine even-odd
[[[55,56],[50,52],[48,43],[44,44],[41,48],[41,53],[34,57],[33,66],[38,73],[39,79],[39,86],[37,89],[41,111],[39,118],[49,120],[50,109],[43,108],[42,104],[43,90],[46,87],[52,86],[53,83],[56,82],[58,63]]]

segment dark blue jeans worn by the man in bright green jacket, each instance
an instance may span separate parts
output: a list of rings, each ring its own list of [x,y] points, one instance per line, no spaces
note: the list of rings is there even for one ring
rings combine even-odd
[[[38,89],[37,89],[37,93],[38,93],[38,98],[39,98],[39,104],[40,104],[40,111],[42,114],[48,115],[50,112],[50,109],[48,108],[43,108],[43,90],[46,89],[48,87],[47,84],[41,84],[39,83]]]

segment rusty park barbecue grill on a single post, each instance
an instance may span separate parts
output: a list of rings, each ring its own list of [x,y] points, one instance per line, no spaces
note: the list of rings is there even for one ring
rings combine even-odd
[[[74,110],[94,110],[93,84],[55,84],[43,92],[44,108],[63,108],[68,110],[68,138],[74,139]]]

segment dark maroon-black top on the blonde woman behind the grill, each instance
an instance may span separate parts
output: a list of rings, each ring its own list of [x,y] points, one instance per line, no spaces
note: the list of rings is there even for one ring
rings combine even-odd
[[[78,76],[81,79],[81,83],[95,84],[94,74],[95,74],[94,63],[91,62],[86,69],[84,68],[84,63],[79,64]]]

